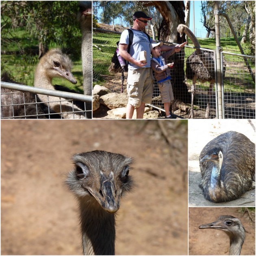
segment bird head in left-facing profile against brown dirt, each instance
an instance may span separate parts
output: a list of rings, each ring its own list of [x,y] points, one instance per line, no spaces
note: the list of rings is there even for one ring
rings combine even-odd
[[[221,215],[217,221],[199,226],[200,229],[214,228],[224,231],[230,240],[245,239],[245,228],[240,219],[230,215]]]

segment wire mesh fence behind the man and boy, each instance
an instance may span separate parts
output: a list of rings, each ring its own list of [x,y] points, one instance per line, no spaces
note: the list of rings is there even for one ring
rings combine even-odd
[[[124,72],[123,83],[121,69],[115,67],[114,63],[109,68],[120,34],[120,32],[93,29],[93,83],[104,85],[117,93],[121,93],[123,84],[126,93],[127,73]],[[200,56],[196,53],[196,48],[185,46],[184,50],[170,56],[167,61],[167,63],[174,62],[174,68],[170,69],[175,98],[171,106],[172,111],[183,118],[191,117],[191,112],[193,118],[217,118],[215,50],[199,49]],[[248,61],[255,63],[255,57],[248,56]],[[255,84],[243,56],[225,52],[221,69],[224,74],[223,118],[254,118]],[[252,72],[255,74],[255,67]],[[150,106],[164,111],[156,80],[153,86]]]

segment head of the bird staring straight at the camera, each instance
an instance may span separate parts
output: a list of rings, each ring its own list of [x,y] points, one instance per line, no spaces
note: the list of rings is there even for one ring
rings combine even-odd
[[[67,185],[78,197],[91,196],[108,213],[115,213],[121,196],[132,187],[128,175],[132,159],[121,154],[95,150],[75,154],[74,169]]]

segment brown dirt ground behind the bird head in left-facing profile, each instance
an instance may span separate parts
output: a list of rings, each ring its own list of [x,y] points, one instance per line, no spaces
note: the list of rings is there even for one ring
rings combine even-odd
[[[229,238],[222,230],[198,227],[208,224],[220,215],[239,218],[245,228],[245,241],[241,255],[255,255],[255,212],[250,212],[252,221],[240,207],[189,207],[189,255],[228,255]]]

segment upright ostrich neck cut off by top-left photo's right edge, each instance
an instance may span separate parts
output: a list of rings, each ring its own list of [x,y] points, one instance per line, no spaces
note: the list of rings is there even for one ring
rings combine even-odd
[[[83,86],[84,93],[86,95],[91,95],[92,84],[92,11],[91,11],[91,1],[80,1],[79,2],[79,13],[78,20],[81,26],[82,32],[82,72],[84,76]]]

